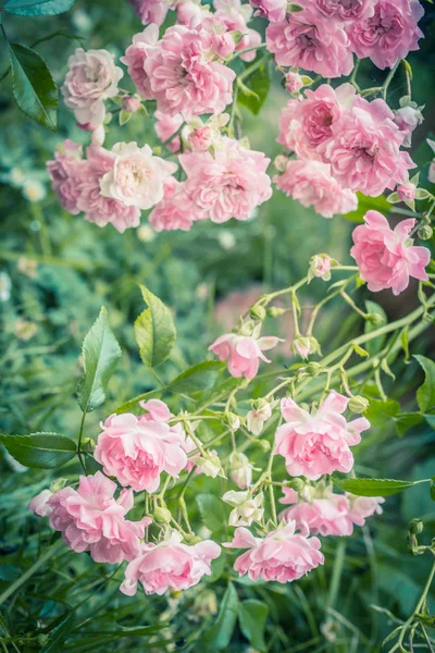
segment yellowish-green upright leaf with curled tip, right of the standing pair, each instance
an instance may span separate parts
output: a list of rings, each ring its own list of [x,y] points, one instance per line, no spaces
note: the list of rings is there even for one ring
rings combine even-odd
[[[135,337],[140,358],[154,368],[170,356],[175,343],[175,324],[169,308],[148,288],[140,285],[148,308],[135,321]]]

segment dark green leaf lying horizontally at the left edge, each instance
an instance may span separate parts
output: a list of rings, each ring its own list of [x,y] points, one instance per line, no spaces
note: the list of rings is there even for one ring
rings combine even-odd
[[[25,467],[52,469],[64,465],[76,455],[76,444],[59,433],[32,433],[30,435],[0,434],[0,443],[15,460]]]

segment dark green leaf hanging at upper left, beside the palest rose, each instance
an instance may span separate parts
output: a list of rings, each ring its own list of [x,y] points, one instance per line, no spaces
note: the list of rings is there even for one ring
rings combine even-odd
[[[9,45],[9,58],[15,102],[28,118],[55,132],[59,94],[47,63],[20,44]]]

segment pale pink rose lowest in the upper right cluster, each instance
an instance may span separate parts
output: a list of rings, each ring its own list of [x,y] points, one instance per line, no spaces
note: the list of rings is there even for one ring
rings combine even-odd
[[[355,211],[358,198],[331,174],[331,167],[320,161],[289,160],[282,175],[273,180],[276,187],[297,199],[302,207],[313,207],[323,218]]]

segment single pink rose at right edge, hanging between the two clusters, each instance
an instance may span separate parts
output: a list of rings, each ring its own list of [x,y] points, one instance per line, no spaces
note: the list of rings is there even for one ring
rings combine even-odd
[[[382,213],[368,211],[364,222],[353,230],[350,256],[369,291],[391,288],[394,295],[399,295],[408,287],[410,276],[427,280],[425,267],[431,252],[426,247],[412,245],[409,237],[415,220],[402,220],[391,230]]]

